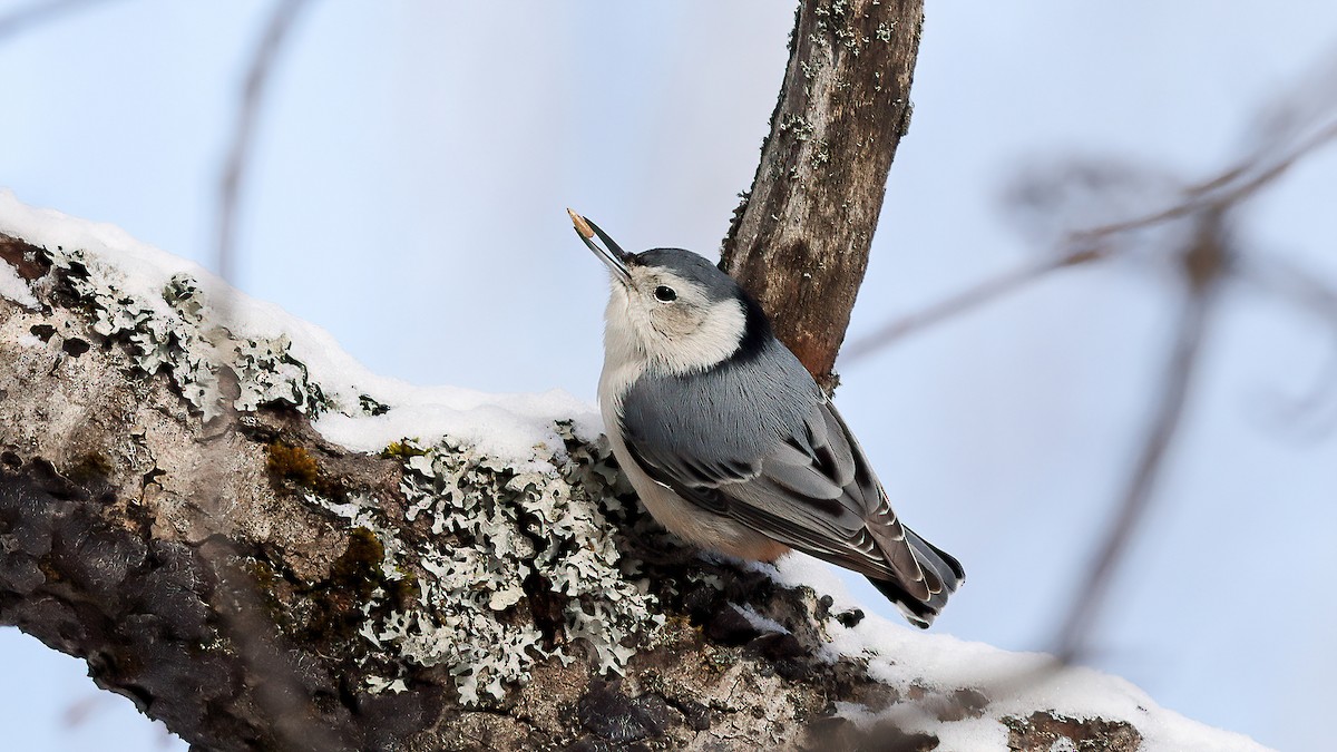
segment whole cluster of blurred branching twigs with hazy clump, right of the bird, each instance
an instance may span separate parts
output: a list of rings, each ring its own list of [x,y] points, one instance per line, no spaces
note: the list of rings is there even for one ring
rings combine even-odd
[[[1325,60],[1325,63],[1328,63]],[[1328,70],[1330,64],[1316,66]],[[1308,157],[1337,139],[1337,99],[1329,76],[1308,76],[1309,86],[1289,99],[1270,103],[1257,116],[1250,154],[1227,170],[1174,190],[1174,181],[1118,159],[1059,162],[1048,174],[1023,177],[1008,191],[1008,209],[1027,226],[1038,245],[1058,245],[1035,262],[921,312],[889,321],[856,340],[846,361],[857,361],[898,339],[931,328],[955,316],[1024,290],[1054,272],[1142,252],[1175,260],[1183,289],[1183,309],[1174,326],[1159,389],[1152,395],[1150,426],[1139,456],[1130,467],[1126,490],[1111,525],[1104,529],[1086,573],[1076,583],[1059,622],[1054,652],[1064,661],[1079,660],[1087,648],[1110,583],[1151,504],[1167,455],[1179,432],[1186,404],[1191,400],[1201,348],[1217,317],[1213,305],[1226,281],[1250,281],[1337,322],[1337,288],[1318,274],[1306,273],[1284,258],[1239,253],[1226,225],[1250,199],[1288,174]],[[1301,115],[1302,114],[1302,115]],[[1148,190],[1150,189],[1150,190]],[[1178,198],[1174,195],[1178,194]],[[1152,197],[1152,198],[1148,198]],[[1155,198],[1162,197],[1162,198]],[[1166,201],[1155,206],[1155,201]],[[1130,218],[1098,221],[1130,213],[1130,203],[1151,206]],[[1313,404],[1332,393],[1332,383],[1304,400]],[[1300,411],[1296,411],[1300,412]]]

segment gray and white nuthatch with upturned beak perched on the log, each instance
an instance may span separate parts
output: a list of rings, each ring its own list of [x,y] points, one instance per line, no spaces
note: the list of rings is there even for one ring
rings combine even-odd
[[[896,516],[849,426],[761,305],[702,256],[627,253],[567,213],[611,273],[599,409],[650,514],[739,559],[794,549],[860,573],[928,628],[965,570]]]

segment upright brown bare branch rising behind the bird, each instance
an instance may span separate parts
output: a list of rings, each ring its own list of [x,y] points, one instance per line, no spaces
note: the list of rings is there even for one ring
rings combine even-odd
[[[770,135],[725,238],[721,266],[828,391],[909,127],[923,21],[923,0],[802,3]]]

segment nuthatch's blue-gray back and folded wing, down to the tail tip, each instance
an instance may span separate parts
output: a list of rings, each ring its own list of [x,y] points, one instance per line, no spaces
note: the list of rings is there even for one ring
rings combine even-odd
[[[960,565],[900,523],[806,372],[747,388],[755,373],[802,368],[782,356],[733,380],[722,369],[707,375],[714,381],[634,389],[622,426],[628,451],[683,499],[865,574],[884,591],[900,589],[932,618],[964,577]]]

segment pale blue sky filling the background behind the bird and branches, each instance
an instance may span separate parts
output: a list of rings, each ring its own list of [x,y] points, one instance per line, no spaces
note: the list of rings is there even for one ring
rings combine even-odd
[[[210,261],[266,8],[120,0],[4,40],[0,186]],[[563,209],[627,248],[714,252],[790,23],[762,1],[314,3],[259,131],[241,286],[382,373],[592,399],[606,278]],[[1312,3],[931,1],[852,335],[1029,258],[997,199],[1019,167],[1080,153],[1202,177],[1334,44],[1337,7]],[[1334,177],[1325,154],[1253,206],[1249,248],[1337,280]],[[837,401],[902,516],[969,571],[935,629],[1044,646],[1134,456],[1173,305],[1152,270],[1082,269],[842,369]],[[1301,440],[1267,405],[1317,377],[1330,341],[1230,294],[1092,660],[1282,749],[1318,748],[1334,700],[1337,440]],[[154,748],[119,698],[66,728],[57,709],[96,690],[44,653],[0,632],[0,723],[31,735],[16,744]]]

